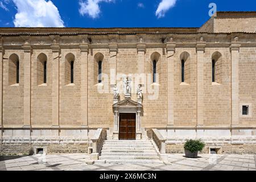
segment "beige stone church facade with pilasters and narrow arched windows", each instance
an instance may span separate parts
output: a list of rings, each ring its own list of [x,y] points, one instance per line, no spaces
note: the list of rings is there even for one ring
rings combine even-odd
[[[253,12],[219,12],[201,28],[0,28],[0,153],[87,152],[98,128],[113,139],[113,88],[131,75],[130,99],[137,101],[137,83],[143,90],[137,139],[155,128],[166,152],[200,138],[207,147],[255,154],[255,20]]]

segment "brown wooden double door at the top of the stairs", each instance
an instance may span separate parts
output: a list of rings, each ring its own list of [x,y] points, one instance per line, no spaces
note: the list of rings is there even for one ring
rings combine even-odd
[[[136,139],[136,113],[119,114],[119,140]]]

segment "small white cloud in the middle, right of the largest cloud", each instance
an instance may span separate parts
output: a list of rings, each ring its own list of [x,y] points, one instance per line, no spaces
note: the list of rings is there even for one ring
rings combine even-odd
[[[85,14],[89,15],[92,18],[98,18],[101,13],[99,3],[101,2],[114,2],[114,0],[80,0],[79,13],[84,16]]]

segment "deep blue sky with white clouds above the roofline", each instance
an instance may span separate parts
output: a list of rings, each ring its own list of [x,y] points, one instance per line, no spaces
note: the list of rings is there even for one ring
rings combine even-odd
[[[0,0],[0,27],[200,27],[217,11],[256,11],[255,0]]]

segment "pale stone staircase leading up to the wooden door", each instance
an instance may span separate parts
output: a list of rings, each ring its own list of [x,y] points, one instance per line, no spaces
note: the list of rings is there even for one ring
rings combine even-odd
[[[159,163],[151,140],[105,140],[98,163]]]

